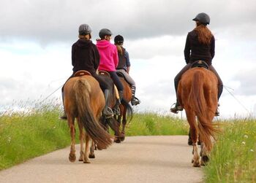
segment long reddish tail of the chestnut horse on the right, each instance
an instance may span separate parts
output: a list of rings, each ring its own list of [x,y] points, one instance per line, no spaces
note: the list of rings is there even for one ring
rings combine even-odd
[[[197,127],[200,133],[200,139],[206,145],[206,149],[209,151],[212,148],[211,137],[214,137],[214,132],[217,132],[217,128],[211,122],[208,115],[208,106],[206,104],[206,98],[203,86],[203,72],[197,71],[192,78],[192,89],[189,94],[189,104],[192,105],[192,109],[197,116]]]

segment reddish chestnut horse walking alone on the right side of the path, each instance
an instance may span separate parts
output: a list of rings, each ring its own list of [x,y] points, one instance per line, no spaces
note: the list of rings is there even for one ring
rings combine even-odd
[[[205,165],[213,146],[212,137],[214,138],[215,132],[219,132],[212,123],[218,106],[217,83],[217,77],[213,72],[195,67],[186,71],[178,84],[178,101],[186,111],[190,126],[193,166]],[[197,149],[198,133],[201,141],[201,162]]]

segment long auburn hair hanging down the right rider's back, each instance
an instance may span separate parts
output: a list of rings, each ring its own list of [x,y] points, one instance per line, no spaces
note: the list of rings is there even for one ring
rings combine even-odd
[[[194,29],[198,35],[198,41],[202,44],[210,44],[212,36],[214,36],[206,25],[198,24]]]

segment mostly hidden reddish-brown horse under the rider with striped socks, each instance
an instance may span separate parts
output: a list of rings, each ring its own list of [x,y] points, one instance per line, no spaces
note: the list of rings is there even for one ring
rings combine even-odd
[[[121,73],[118,73],[118,77],[121,81],[121,83],[124,86],[124,99],[128,103],[132,100],[132,88],[129,85],[129,83],[124,79],[123,75]],[[121,129],[121,135],[117,137],[116,142],[120,143],[121,141],[124,141],[125,139],[125,128],[127,125],[127,106],[121,104],[120,106],[120,115],[116,117],[116,120],[118,122],[118,129],[120,128],[120,125],[122,124],[122,129]],[[131,118],[129,119],[129,122],[132,120],[132,115]]]

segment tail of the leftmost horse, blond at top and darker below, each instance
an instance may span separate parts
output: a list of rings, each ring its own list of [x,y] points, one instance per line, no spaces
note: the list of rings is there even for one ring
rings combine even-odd
[[[99,149],[106,149],[112,144],[112,137],[94,117],[91,109],[90,92],[93,90],[85,79],[78,79],[74,85],[76,105],[78,106],[78,120],[83,124],[86,133],[97,144]]]

